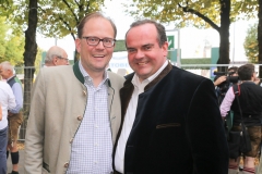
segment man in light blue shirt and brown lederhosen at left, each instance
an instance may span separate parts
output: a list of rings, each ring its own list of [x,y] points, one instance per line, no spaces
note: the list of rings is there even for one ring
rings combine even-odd
[[[17,174],[19,172],[19,149],[17,149],[17,138],[19,138],[19,127],[23,122],[23,88],[21,80],[13,73],[13,66],[10,62],[2,62],[0,64],[0,75],[7,83],[11,86],[16,107],[8,112],[9,121],[9,141],[7,157],[9,157],[9,150],[11,151],[11,160],[13,164],[12,174]]]

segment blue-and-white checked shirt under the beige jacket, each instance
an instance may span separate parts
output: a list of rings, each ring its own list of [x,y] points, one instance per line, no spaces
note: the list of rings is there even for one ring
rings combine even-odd
[[[87,88],[87,104],[83,121],[72,142],[67,174],[108,174],[112,171],[112,139],[108,112],[108,74],[95,87],[92,77],[83,69]]]

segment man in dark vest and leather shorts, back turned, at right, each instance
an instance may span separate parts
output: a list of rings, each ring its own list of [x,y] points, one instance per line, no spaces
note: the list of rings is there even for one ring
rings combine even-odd
[[[254,158],[260,151],[261,145],[261,116],[262,116],[262,88],[254,84],[257,73],[253,64],[245,64],[238,69],[238,76],[241,80],[239,85],[240,96],[239,103],[242,112],[243,124],[248,127],[248,134],[251,140],[252,150],[243,153],[243,174],[254,173]],[[230,87],[221,104],[221,114],[226,116],[229,110],[234,111],[233,128],[231,130],[241,129],[241,116],[233,87]],[[239,145],[240,146],[240,145]],[[233,149],[229,149],[234,152]],[[239,157],[241,151],[237,151]],[[239,158],[236,160],[229,157],[228,174],[236,174],[239,165]]]

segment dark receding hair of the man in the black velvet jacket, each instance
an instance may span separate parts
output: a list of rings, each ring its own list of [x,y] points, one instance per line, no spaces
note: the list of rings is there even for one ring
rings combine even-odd
[[[155,22],[153,20],[140,20],[140,21],[133,22],[130,25],[129,30],[131,28],[135,27],[135,26],[144,25],[144,24],[153,24],[153,25],[155,25],[156,30],[157,30],[157,41],[158,41],[159,47],[162,47],[167,41],[166,29],[165,29],[165,27],[162,24],[159,24],[159,23],[157,23],[157,22]],[[129,30],[126,34],[126,46],[127,46],[127,35],[128,35]]]

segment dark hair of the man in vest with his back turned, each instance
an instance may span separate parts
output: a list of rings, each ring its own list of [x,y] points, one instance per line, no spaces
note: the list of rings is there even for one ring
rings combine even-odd
[[[250,80],[254,73],[254,65],[253,64],[245,64],[238,69],[238,76],[240,80]]]

